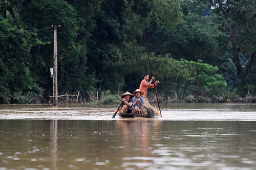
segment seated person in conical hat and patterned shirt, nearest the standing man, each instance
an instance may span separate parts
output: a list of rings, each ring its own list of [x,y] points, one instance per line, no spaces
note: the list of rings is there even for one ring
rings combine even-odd
[[[141,113],[141,109],[142,109],[142,106],[146,106],[146,103],[145,103],[145,100],[144,98],[142,97],[144,93],[142,91],[140,91],[139,89],[135,90],[133,92],[133,95],[135,96],[134,99],[133,99],[133,106],[134,106],[134,109],[132,111],[132,113],[138,113],[140,114]]]

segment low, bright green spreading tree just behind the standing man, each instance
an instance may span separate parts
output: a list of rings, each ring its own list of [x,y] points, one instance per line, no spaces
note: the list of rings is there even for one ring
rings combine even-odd
[[[211,98],[212,95],[221,94],[221,89],[227,87],[223,76],[218,74],[218,67],[202,63],[202,60],[198,62],[184,59],[175,60],[169,54],[156,56],[153,53],[150,54],[150,57],[154,76],[157,80],[160,80],[157,89],[163,94],[162,96],[167,97],[176,93],[179,99],[183,99],[187,95],[200,95]],[[133,63],[133,61],[130,62]],[[134,74],[137,72],[148,72],[151,74],[147,55],[142,54],[133,63],[133,67],[126,68],[126,71],[133,72]],[[137,87],[139,87],[139,84],[140,81],[136,81]],[[130,87],[129,90],[134,89]]]

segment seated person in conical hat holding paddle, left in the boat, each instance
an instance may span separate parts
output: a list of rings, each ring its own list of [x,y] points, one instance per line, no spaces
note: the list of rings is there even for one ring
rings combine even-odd
[[[134,96],[129,91],[126,91],[125,93],[123,93],[123,95],[121,95],[121,98],[123,100],[123,104],[121,105],[119,110],[121,110],[122,107],[123,107],[123,113],[132,113],[132,110],[134,109],[134,107],[133,107],[133,97]],[[119,110],[116,110],[116,112],[119,111]]]

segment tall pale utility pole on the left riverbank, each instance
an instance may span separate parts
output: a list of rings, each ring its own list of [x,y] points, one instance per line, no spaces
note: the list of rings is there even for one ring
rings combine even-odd
[[[54,27],[54,47],[53,47],[53,106],[58,106],[58,50],[57,50],[57,28],[60,26]]]

